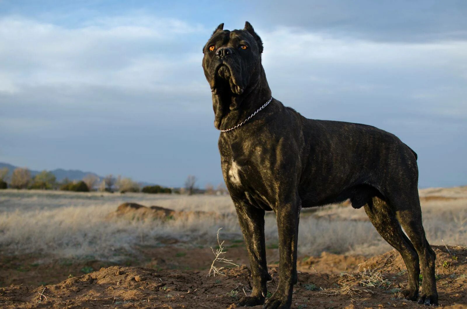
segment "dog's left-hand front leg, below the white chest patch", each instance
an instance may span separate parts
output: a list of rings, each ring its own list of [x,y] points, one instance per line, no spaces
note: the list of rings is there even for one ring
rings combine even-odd
[[[253,291],[237,302],[237,306],[256,306],[264,303],[268,293],[266,281],[271,280],[266,264],[266,246],[264,241],[264,211],[246,201],[234,201],[241,231],[248,249]]]

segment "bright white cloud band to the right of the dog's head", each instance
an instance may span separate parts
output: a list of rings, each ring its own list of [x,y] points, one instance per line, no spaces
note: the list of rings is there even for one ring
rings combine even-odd
[[[458,116],[461,112],[467,117],[467,88],[461,86],[467,74],[465,41],[373,42],[286,27],[258,33],[269,84],[298,103],[324,96],[347,97],[355,104],[352,97],[359,95],[362,100],[377,99],[371,104],[386,105],[392,98],[399,101],[395,106],[406,110],[442,110]],[[430,96],[420,100],[428,92]],[[446,100],[449,104],[443,103]]]

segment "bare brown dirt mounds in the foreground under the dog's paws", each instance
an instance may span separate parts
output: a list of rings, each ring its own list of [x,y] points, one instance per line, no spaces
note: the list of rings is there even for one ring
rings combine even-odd
[[[439,303],[467,308],[467,248],[434,247],[437,253]],[[332,259],[332,255],[330,255]],[[350,263],[357,262],[349,260]],[[375,256],[343,274],[298,274],[292,308],[420,308],[398,298],[407,278],[395,251]],[[54,285],[0,288],[3,308],[227,308],[251,291],[250,272],[242,265],[223,269],[224,276],[206,277],[207,271],[161,270],[112,266],[72,277]],[[269,267],[278,282],[277,267]],[[270,294],[268,293],[268,296]],[[258,306],[257,308],[261,308]]]

